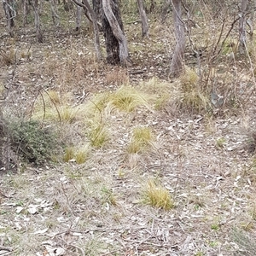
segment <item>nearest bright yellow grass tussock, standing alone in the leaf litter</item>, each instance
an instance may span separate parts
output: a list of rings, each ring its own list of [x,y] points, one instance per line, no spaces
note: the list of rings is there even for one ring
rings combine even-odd
[[[169,191],[160,184],[157,185],[153,179],[149,179],[143,188],[143,201],[152,207],[164,210],[170,210],[174,207]]]

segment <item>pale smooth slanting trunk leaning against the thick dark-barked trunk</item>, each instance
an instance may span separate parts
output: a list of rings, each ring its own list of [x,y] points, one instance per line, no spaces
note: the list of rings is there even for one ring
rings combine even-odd
[[[119,22],[116,17],[113,15],[113,11],[111,9],[110,0],[102,0],[102,9],[104,14],[108,20],[109,25],[111,26],[113,35],[117,38],[119,42],[119,60],[121,65],[129,66],[129,51],[128,51],[128,44],[125,38],[125,33],[119,26]]]

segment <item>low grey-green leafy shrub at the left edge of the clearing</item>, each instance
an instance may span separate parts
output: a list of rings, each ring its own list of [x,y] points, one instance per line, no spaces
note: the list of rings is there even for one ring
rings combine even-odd
[[[35,120],[10,122],[9,137],[14,151],[22,160],[35,165],[52,160],[57,152],[56,133]]]

